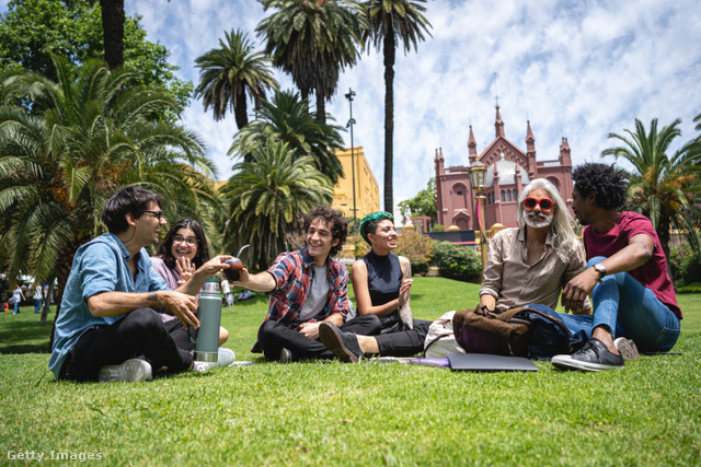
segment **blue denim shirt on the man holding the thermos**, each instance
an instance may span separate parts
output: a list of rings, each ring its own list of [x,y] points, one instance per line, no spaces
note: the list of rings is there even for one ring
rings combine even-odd
[[[136,278],[131,276],[129,252],[114,234],[103,234],[84,244],[73,257],[60,315],[56,322],[54,348],[48,366],[58,378],[68,353],[89,329],[110,326],[120,316],[93,316],[88,299],[102,292],[151,292],[170,290],[165,281],[153,271],[146,249],[136,255]]]

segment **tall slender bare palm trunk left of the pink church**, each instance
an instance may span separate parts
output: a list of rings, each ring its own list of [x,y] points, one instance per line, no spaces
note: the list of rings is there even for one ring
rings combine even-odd
[[[384,210],[394,211],[392,197],[392,171],[394,144],[394,27],[390,22],[389,31],[384,32]]]

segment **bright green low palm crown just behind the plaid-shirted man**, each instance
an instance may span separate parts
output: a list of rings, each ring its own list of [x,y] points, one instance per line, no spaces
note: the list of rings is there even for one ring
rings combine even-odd
[[[234,165],[235,174],[220,192],[230,212],[225,245],[230,252],[251,244],[255,266],[264,270],[278,253],[290,249],[302,214],[329,205],[333,188],[313,160],[297,156],[283,141],[256,148],[251,162]]]

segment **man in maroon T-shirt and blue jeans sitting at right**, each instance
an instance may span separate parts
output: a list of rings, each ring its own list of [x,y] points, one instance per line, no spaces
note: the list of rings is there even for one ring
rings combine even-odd
[[[587,269],[563,289],[562,303],[591,292],[594,315],[565,320],[573,331],[591,338],[572,355],[555,355],[560,369],[601,371],[623,367],[623,360],[666,352],[679,338],[681,311],[667,273],[657,233],[644,215],[619,212],[628,195],[621,171],[585,163],[574,168],[573,209],[585,225]],[[616,338],[618,337],[618,338]]]

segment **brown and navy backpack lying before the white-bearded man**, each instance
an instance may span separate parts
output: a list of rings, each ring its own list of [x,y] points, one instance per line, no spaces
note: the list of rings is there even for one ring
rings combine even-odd
[[[547,306],[519,306],[492,312],[486,306],[462,310],[452,318],[456,341],[468,352],[547,360],[572,353],[586,338],[573,336],[558,314]]]

